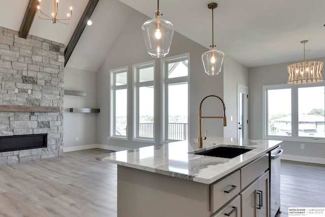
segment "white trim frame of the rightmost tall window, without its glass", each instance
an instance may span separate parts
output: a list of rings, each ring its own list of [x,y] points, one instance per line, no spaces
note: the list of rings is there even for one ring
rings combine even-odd
[[[166,65],[167,63],[173,62],[173,61],[179,61],[180,59],[187,59],[187,76],[183,77],[177,77],[177,78],[168,78],[166,75]],[[168,101],[167,101],[167,96],[168,96],[168,91],[167,91],[167,86],[168,84],[171,83],[181,83],[181,82],[187,82],[187,112],[188,112],[188,117],[187,117],[187,137],[189,137],[189,132],[190,132],[190,119],[189,119],[189,114],[190,114],[190,55],[189,53],[184,53],[176,56],[171,56],[171,57],[165,57],[160,59],[160,96],[161,96],[161,115],[160,115],[160,120],[161,120],[161,135],[160,135],[160,142],[173,142],[177,140],[168,140]],[[189,139],[189,138],[187,138]]]

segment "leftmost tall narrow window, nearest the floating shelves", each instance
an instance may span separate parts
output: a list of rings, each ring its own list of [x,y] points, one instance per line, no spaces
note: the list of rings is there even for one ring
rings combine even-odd
[[[112,137],[127,135],[127,68],[115,69],[111,74],[111,133]]]

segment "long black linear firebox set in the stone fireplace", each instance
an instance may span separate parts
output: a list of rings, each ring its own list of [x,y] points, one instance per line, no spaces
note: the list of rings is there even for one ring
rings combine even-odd
[[[0,152],[47,147],[47,134],[0,137]]]

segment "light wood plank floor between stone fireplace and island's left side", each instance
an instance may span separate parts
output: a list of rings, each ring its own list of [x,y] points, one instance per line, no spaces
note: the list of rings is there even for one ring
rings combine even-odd
[[[0,216],[116,216],[116,165],[103,149],[0,166]]]

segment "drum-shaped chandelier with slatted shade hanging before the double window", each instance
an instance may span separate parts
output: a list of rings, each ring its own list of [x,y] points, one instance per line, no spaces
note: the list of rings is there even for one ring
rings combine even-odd
[[[319,60],[306,61],[305,59],[305,44],[307,42],[307,40],[300,42],[304,44],[304,61],[288,66],[288,84],[312,84],[324,80],[321,73],[323,62]]]

